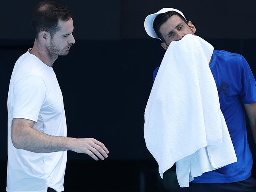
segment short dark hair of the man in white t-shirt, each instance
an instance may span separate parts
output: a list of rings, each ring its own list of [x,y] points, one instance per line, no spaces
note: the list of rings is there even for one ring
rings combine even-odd
[[[68,21],[71,14],[67,7],[56,2],[40,2],[32,12],[31,25],[35,31],[36,39],[41,31],[47,31],[51,36],[60,30],[58,20]]]

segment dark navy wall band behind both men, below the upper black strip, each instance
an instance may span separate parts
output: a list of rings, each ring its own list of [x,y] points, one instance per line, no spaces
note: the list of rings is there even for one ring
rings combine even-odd
[[[255,39],[207,40],[215,49],[243,54],[256,75]],[[24,44],[29,43],[32,44]],[[29,47],[0,49],[0,118],[4,125],[11,71]],[[143,138],[144,109],[153,84],[153,70],[161,63],[163,54],[159,41],[151,39],[77,41],[69,55],[58,58],[53,65],[64,97],[68,136],[94,137],[104,142],[110,150],[109,159],[151,159]],[[4,127],[2,146],[6,145]],[[0,158],[4,160],[7,156]],[[70,153],[69,158],[88,157]]]

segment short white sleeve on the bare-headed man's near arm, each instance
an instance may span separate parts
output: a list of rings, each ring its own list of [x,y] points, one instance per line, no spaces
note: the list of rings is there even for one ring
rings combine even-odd
[[[26,75],[14,84],[13,118],[37,122],[45,101],[46,87],[41,76]]]

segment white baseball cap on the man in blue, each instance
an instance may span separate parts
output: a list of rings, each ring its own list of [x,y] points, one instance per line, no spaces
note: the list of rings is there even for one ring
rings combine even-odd
[[[153,38],[157,38],[157,39],[160,39],[157,34],[155,33],[155,30],[153,28],[153,23],[154,23],[154,20],[155,18],[157,17],[157,15],[161,14],[161,13],[166,13],[168,11],[175,11],[177,13],[179,13],[182,17],[184,17],[184,19],[187,21],[187,19],[185,18],[185,16],[183,15],[183,13],[181,11],[179,11],[178,9],[173,9],[173,8],[163,8],[161,9],[160,11],[158,11],[157,13],[153,13],[151,15],[148,15],[145,19],[145,22],[144,22],[144,27],[145,27],[145,30],[147,32],[147,34],[150,36],[150,37],[153,37]]]

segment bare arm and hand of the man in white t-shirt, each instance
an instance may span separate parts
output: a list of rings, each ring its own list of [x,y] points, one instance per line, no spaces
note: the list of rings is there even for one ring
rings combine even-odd
[[[29,119],[13,119],[11,140],[15,148],[35,153],[71,150],[86,153],[95,160],[98,160],[98,157],[102,160],[108,157],[105,145],[93,138],[51,136],[34,129],[34,124],[35,122]]]

